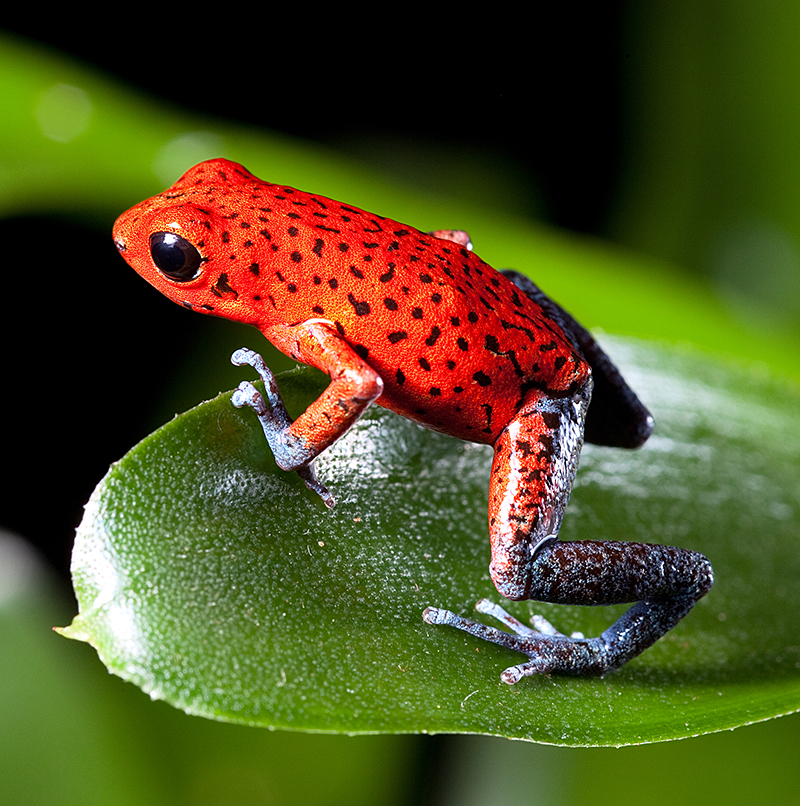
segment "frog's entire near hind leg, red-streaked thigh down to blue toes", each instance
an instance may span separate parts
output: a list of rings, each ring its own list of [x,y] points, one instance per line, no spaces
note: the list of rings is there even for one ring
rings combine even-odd
[[[507,669],[515,683],[531,674],[603,675],[654,644],[708,592],[713,572],[694,551],[619,541],[557,539],[577,466],[588,391],[548,400],[536,393],[501,435],[492,467],[491,575],[510,599],[572,605],[636,602],[596,638],[565,636],[542,622],[531,630],[504,611],[513,634],[428,608],[424,618],[515,649],[529,660]],[[549,627],[549,625],[548,625]]]

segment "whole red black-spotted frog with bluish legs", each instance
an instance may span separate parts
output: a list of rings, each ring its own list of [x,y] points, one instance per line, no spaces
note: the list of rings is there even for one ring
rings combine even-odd
[[[709,590],[694,551],[558,539],[578,455],[592,443],[637,448],[653,419],[589,332],[526,277],[498,272],[459,230],[424,233],[352,205],[264,182],[214,159],[124,213],[125,260],[190,310],[255,325],[330,385],[296,420],[263,359],[251,407],[280,468],[328,505],[314,459],[377,403],[428,428],[491,445],[492,580],[504,597],[572,605],[631,603],[600,636],[527,627],[488,600],[500,630],[437,607],[429,624],[465,630],[528,660],[506,683],[540,673],[603,675],[635,657]],[[591,405],[590,405],[591,401]]]

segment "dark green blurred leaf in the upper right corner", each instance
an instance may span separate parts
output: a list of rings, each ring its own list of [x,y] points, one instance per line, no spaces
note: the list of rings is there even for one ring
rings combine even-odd
[[[800,6],[633,3],[626,18],[629,139],[610,236],[707,277],[756,338],[796,341]]]

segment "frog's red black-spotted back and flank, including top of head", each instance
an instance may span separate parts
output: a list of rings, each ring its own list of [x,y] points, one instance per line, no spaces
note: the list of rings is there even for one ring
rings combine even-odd
[[[588,377],[558,325],[454,241],[226,160],[201,163],[148,204],[207,215],[206,269],[224,279],[212,291],[248,306],[222,315],[265,332],[332,322],[383,378],[377,402],[431,428],[493,442],[530,389],[569,394]]]

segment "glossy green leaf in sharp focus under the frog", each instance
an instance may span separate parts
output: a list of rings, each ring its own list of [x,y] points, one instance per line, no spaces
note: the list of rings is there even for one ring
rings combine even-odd
[[[229,394],[176,417],[111,468],[73,557],[64,633],[189,713],[309,731],[474,732],[619,745],[800,708],[800,397],[764,374],[604,339],[656,416],[639,451],[587,446],[562,536],[685,546],[716,585],[655,647],[604,679],[500,672],[521,656],[428,626],[489,580],[486,446],[374,407],[318,462],[326,510],[277,470]],[[295,415],[325,379],[280,386]],[[621,608],[512,603],[597,634]]]

